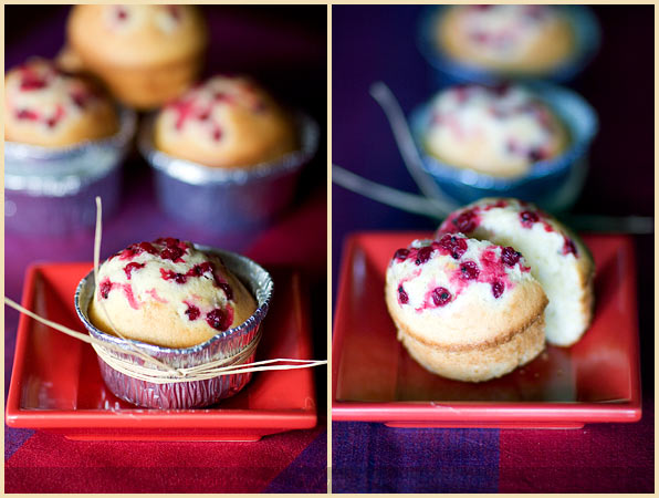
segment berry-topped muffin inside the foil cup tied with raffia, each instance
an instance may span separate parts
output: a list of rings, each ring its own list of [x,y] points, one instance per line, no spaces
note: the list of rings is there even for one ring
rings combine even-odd
[[[103,262],[88,314],[111,334],[114,325],[127,339],[189,347],[242,324],[255,310],[254,298],[218,256],[161,238]]]

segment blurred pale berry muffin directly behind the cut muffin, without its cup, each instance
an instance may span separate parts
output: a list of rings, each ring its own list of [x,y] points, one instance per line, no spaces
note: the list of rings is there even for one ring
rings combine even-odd
[[[454,86],[431,103],[425,145],[449,166],[517,176],[567,147],[552,110],[522,86]]]

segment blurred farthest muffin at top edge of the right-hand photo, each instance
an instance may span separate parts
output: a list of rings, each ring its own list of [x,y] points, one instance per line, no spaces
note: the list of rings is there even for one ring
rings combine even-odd
[[[439,21],[437,42],[468,65],[537,74],[569,60],[575,33],[555,6],[454,6]]]

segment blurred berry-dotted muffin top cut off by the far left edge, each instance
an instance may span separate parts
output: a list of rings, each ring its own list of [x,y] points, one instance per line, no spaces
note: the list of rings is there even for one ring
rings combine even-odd
[[[115,107],[90,81],[30,59],[4,75],[4,139],[65,146],[113,135]]]

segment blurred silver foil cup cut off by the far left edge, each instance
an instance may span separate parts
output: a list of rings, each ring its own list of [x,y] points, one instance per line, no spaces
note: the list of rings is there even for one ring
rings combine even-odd
[[[66,147],[4,142],[4,226],[25,235],[64,235],[94,227],[94,198],[104,219],[119,204],[121,164],[136,115],[118,108],[119,129],[107,138]]]

